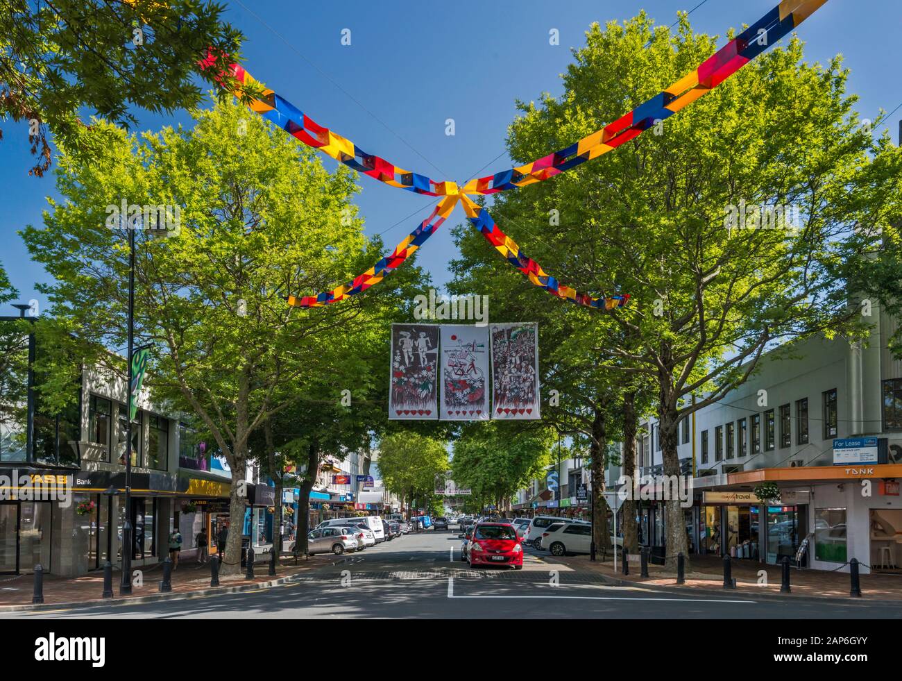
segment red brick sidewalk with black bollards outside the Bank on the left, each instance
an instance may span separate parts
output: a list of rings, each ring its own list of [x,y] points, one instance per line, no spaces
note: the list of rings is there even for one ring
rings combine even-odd
[[[254,563],[254,578],[245,578],[245,568],[239,575],[219,575],[219,586],[210,587],[210,564],[198,565],[194,560],[180,561],[179,567],[172,571],[172,591],[169,594],[160,592],[160,582],[163,578],[162,564],[155,566],[135,567],[143,572],[143,584],[133,585],[132,594],[125,597],[119,595],[119,583],[122,573],[113,570],[113,598],[103,598],[104,575],[103,571],[92,572],[75,579],[63,579],[53,575],[44,575],[43,594],[44,606],[53,604],[77,604],[114,601],[129,599],[147,599],[149,597],[182,597],[192,594],[216,594],[228,593],[236,589],[260,587],[271,583],[273,580],[281,580],[292,575],[298,575],[314,571],[319,567],[332,566],[347,556],[337,557],[332,554],[312,556],[308,559],[299,557],[295,565],[294,557],[283,556],[276,566],[276,575],[269,575],[269,554],[263,554],[265,560],[259,559]],[[32,605],[34,590],[34,575],[16,575],[0,579],[0,612],[20,610],[23,606]],[[37,606],[41,607],[41,606]]]

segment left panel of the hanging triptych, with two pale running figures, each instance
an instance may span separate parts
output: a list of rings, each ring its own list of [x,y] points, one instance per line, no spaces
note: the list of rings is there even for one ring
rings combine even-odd
[[[389,419],[437,419],[438,325],[391,325]]]

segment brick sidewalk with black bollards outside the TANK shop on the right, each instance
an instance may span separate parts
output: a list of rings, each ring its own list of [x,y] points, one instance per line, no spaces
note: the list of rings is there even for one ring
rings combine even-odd
[[[630,556],[630,575],[623,575],[620,554],[617,556],[617,571],[613,570],[613,559],[609,554],[602,560],[601,554],[594,563],[588,556],[550,557],[551,561],[560,562],[575,570],[590,570],[612,579],[649,586],[667,586],[685,589],[688,592],[717,591],[721,594],[768,594],[785,598],[827,598],[851,599],[851,576],[847,572],[824,572],[823,570],[798,570],[790,568],[789,584],[791,593],[780,593],[782,568],[765,565],[752,560],[732,561],[732,577],[736,580],[736,591],[723,589],[723,558],[713,556],[692,556],[690,569],[686,571],[686,583],[676,584],[676,573],[666,572],[664,566],[649,564],[649,576],[640,576],[640,558]],[[767,574],[767,581],[759,584],[759,571]],[[861,598],[854,601],[899,601],[902,603],[902,575],[861,575]]]

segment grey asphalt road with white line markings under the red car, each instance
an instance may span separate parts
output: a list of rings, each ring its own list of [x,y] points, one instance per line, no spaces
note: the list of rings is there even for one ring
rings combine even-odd
[[[242,594],[110,603],[72,610],[17,612],[4,619],[273,619],[273,618],[902,618],[897,606],[756,601],[750,597],[675,594],[604,584],[600,577],[559,565],[528,550],[522,570],[470,570],[460,558],[456,529],[428,530],[368,548],[345,563],[296,581]]]

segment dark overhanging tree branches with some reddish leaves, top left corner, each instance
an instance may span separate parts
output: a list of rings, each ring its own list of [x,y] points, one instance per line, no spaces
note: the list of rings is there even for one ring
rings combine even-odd
[[[80,134],[82,107],[116,124],[134,124],[133,106],[167,113],[198,106],[198,75],[231,94],[232,83],[210,77],[234,60],[242,41],[221,20],[223,10],[206,0],[6,2],[0,13],[0,118],[29,125],[38,157],[30,174],[41,176],[50,167],[48,128],[70,151],[99,151],[103,140]],[[198,60],[207,49],[216,64],[202,70]]]

